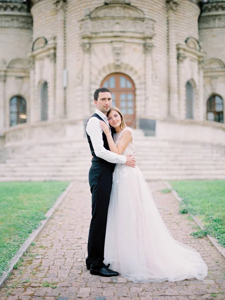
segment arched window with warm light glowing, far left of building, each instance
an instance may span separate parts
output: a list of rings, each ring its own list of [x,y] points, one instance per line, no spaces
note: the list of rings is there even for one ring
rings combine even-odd
[[[21,96],[14,96],[9,102],[10,126],[26,122],[26,100]]]

